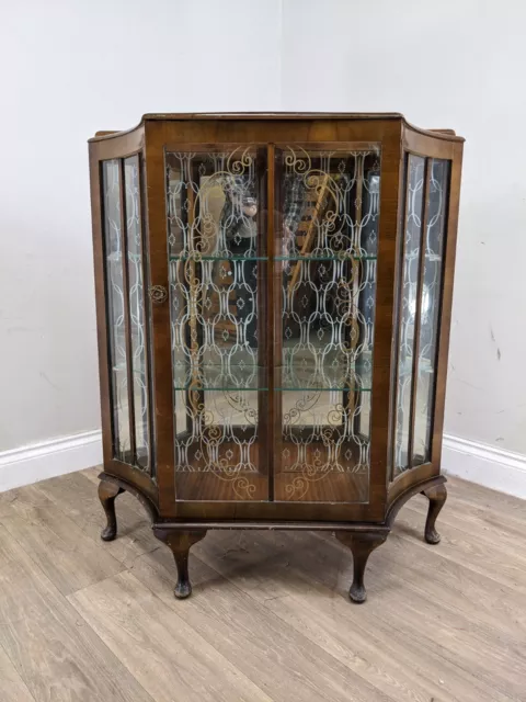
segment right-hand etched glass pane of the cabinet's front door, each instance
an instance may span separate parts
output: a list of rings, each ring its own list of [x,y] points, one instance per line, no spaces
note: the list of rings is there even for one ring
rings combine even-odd
[[[380,152],[278,151],[275,499],[368,500]]]

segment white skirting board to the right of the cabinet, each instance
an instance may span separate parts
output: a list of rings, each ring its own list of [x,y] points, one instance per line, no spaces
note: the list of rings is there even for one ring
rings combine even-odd
[[[526,499],[526,455],[446,434],[442,468],[470,483]]]

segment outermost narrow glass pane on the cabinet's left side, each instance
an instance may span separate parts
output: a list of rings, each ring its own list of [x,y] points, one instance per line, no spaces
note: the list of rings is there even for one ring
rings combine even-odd
[[[124,318],[123,237],[121,227],[119,161],[102,165],[103,229],[111,367],[113,451],[118,461],[130,457],[127,356]]]

